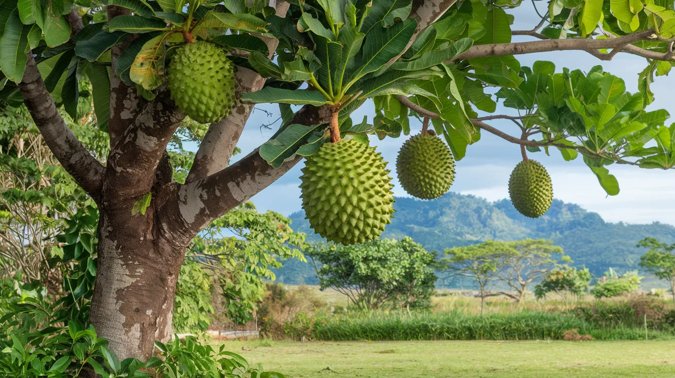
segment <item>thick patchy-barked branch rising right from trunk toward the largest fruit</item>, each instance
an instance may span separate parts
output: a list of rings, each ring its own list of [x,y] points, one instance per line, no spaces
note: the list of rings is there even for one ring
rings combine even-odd
[[[321,125],[330,117],[327,106],[305,105],[300,108],[292,123]],[[302,156],[294,156],[279,168],[273,168],[258,149],[238,162],[204,179],[180,185],[175,195],[177,214],[183,220],[180,230],[198,232],[240,203],[247,201],[288,172]],[[172,210],[169,210],[172,211]]]

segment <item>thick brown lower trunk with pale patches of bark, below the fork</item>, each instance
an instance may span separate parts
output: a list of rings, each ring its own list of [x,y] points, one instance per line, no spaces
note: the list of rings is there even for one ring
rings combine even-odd
[[[89,321],[120,359],[148,360],[155,340],[171,338],[173,297],[189,239],[177,243],[158,230],[152,207],[144,216],[132,216],[126,206],[100,214]]]

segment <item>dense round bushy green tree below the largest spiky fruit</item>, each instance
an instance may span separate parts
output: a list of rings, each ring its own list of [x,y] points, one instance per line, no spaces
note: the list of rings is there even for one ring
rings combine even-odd
[[[349,246],[317,244],[306,248],[305,254],[323,264],[317,269],[321,290],[333,288],[362,309],[431,305],[435,256],[412,238]]]

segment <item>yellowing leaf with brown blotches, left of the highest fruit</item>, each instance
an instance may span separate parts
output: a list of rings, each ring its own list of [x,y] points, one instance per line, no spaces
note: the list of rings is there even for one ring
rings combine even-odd
[[[140,84],[146,90],[154,90],[163,84],[167,50],[165,42],[169,34],[160,34],[143,44],[130,67],[129,77],[132,82]]]

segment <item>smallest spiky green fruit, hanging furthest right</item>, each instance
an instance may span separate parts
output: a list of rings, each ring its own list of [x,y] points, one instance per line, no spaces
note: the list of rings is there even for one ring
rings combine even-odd
[[[539,162],[522,161],[511,172],[508,193],[520,214],[539,218],[549,210],[553,201],[551,177]]]

